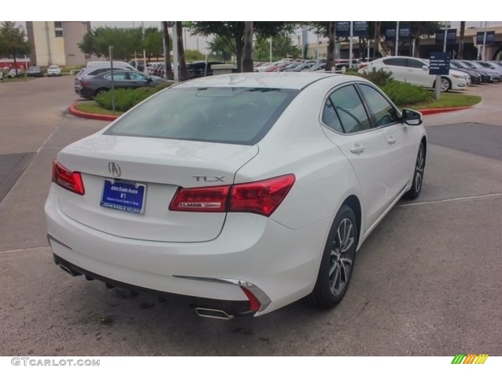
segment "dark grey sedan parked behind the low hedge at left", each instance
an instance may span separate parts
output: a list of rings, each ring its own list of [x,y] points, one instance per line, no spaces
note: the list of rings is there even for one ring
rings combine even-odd
[[[137,70],[113,70],[113,85],[116,89],[157,86],[164,82],[166,80],[162,77],[150,76]],[[82,98],[92,99],[109,89],[111,89],[111,72],[106,71],[93,76],[82,77],[78,94]]]

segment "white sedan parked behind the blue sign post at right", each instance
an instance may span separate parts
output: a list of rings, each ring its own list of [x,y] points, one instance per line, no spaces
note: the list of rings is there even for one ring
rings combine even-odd
[[[359,69],[359,73],[370,72],[371,70],[383,69],[391,72],[392,77],[398,81],[406,81],[410,84],[435,87],[435,75],[429,74],[429,62],[426,59],[413,58],[409,56],[387,56],[370,61]],[[450,69],[448,75],[441,75],[440,91],[466,89],[470,83],[470,76],[467,73]]]

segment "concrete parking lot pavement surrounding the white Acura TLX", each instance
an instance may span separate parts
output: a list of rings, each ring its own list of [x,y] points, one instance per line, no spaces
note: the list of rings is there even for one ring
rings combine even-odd
[[[502,355],[502,84],[425,116],[425,183],[357,253],[334,310],[304,302],[218,321],[56,267],[43,207],[51,163],[107,123],[66,114],[72,77],[0,84],[0,355]]]

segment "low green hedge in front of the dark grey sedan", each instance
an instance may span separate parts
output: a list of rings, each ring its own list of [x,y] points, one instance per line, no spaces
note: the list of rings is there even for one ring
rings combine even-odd
[[[170,82],[163,83],[156,87],[140,87],[137,89],[115,89],[115,110],[128,111],[135,107],[143,100],[152,96],[154,93],[171,86]],[[94,101],[102,108],[112,110],[111,106],[111,91],[104,92],[99,98],[94,98]]]

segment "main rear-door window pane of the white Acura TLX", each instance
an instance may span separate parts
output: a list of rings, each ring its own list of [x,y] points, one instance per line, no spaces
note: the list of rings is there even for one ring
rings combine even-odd
[[[364,105],[353,85],[335,90],[329,96],[329,100],[338,114],[345,133],[351,134],[371,128]]]

